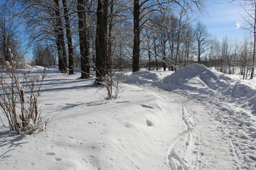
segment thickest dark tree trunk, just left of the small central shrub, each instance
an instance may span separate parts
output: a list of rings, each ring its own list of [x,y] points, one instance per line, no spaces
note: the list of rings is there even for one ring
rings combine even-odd
[[[98,0],[96,30],[96,83],[108,74],[108,0]]]

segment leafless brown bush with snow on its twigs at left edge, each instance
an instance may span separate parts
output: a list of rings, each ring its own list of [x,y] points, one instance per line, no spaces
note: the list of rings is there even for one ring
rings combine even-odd
[[[46,69],[32,73],[22,58],[9,50],[10,62],[0,67],[0,108],[9,121],[10,130],[29,133],[44,124],[40,118],[38,97]]]

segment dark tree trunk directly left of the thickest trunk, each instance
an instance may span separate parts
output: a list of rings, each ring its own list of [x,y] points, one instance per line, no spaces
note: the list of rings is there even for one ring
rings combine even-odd
[[[79,45],[81,57],[81,78],[90,78],[90,65],[89,65],[89,41],[88,41],[88,28],[86,24],[85,14],[85,0],[77,0],[77,15],[79,17]]]

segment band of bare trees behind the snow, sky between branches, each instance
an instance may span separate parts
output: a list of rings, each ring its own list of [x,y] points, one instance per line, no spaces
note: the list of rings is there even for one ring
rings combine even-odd
[[[196,19],[204,12],[203,2],[6,1],[0,11],[0,55],[8,61],[7,44],[23,56],[18,35],[24,30],[33,65],[58,65],[69,74],[81,67],[81,78],[89,78],[92,67],[103,77],[112,69],[176,71],[194,62],[252,78],[255,17],[245,18],[250,24],[244,42],[218,40]]]

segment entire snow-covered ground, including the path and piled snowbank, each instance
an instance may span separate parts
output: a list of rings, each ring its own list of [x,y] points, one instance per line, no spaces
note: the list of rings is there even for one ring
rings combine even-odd
[[[16,135],[0,113],[0,169],[256,169],[256,80],[193,64],[126,73],[118,99],[94,78],[49,69],[46,131]],[[5,139],[4,139],[5,138]]]

